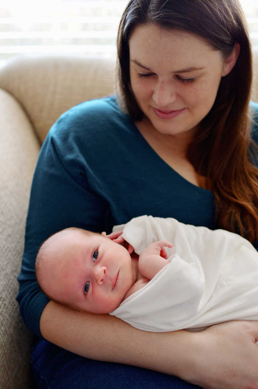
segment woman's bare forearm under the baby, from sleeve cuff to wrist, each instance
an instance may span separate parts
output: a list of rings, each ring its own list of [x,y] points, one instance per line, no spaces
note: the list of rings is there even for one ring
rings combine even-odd
[[[48,341],[81,356],[178,376],[187,366],[193,335],[141,331],[115,316],[78,312],[52,301],[43,310],[40,330]]]

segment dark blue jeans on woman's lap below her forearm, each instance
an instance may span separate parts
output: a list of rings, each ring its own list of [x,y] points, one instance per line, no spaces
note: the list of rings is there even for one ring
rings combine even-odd
[[[83,358],[42,339],[31,363],[38,389],[200,389],[157,371]]]

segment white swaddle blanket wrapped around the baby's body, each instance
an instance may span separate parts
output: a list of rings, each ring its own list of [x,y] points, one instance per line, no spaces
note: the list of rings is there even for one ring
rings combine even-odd
[[[168,265],[111,315],[146,331],[258,320],[258,252],[246,239],[146,215],[113,231],[122,229],[137,254],[157,240],[174,247],[166,248]]]

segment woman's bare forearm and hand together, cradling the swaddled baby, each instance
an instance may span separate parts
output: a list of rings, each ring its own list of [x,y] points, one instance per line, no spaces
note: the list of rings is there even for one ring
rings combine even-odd
[[[50,342],[91,359],[161,371],[204,389],[258,388],[258,322],[218,324],[199,333],[156,333],[50,301],[40,330]]]

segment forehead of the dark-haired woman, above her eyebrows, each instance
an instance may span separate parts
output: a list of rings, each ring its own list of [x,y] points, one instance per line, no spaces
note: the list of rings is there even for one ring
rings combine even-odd
[[[220,51],[201,37],[178,30],[150,26],[135,28],[129,40],[130,63],[138,63],[155,72],[156,68],[179,72],[185,68],[201,69],[221,61]],[[216,57],[216,58],[215,58]]]

